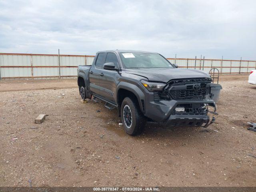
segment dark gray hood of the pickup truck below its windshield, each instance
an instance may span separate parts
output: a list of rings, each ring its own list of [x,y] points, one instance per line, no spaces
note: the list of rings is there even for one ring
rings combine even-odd
[[[182,68],[134,68],[126,69],[125,72],[148,78],[149,81],[165,83],[173,79],[210,78],[206,72]]]

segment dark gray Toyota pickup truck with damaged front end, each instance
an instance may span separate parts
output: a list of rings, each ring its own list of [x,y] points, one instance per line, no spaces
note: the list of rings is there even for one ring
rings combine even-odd
[[[97,52],[91,66],[78,66],[82,99],[117,108],[127,134],[140,134],[146,121],[166,126],[204,126],[214,122],[211,76],[178,68],[154,52],[110,50]],[[214,110],[210,111],[208,106]]]

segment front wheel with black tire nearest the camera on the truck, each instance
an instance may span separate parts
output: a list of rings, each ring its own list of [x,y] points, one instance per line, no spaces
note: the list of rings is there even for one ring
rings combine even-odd
[[[121,105],[121,119],[127,134],[136,135],[143,132],[146,119],[140,111],[137,100],[129,97],[124,98]]]

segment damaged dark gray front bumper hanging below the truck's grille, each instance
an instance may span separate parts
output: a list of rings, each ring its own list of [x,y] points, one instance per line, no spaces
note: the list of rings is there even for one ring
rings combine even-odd
[[[177,106],[191,105],[205,105],[212,106],[216,113],[216,103],[214,100],[160,100],[158,102],[149,102],[146,106],[146,116],[156,122],[165,122],[166,126],[204,126],[208,127],[215,121],[213,117],[210,120],[210,116],[206,113],[176,113],[175,108]]]

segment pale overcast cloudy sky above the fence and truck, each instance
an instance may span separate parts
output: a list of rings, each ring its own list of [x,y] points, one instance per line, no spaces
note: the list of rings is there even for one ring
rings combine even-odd
[[[0,0],[0,52],[256,60],[255,0]]]

